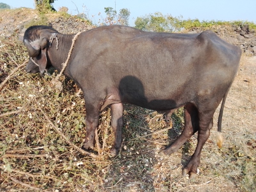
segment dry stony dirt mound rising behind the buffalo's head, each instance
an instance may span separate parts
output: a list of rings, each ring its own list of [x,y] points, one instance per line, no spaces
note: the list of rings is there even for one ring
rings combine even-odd
[[[23,41],[25,30],[31,25],[39,24],[48,25],[63,34],[78,33],[95,27],[87,20],[64,12],[40,15],[36,10],[28,8],[0,12],[1,36],[6,38],[19,36],[20,41]]]

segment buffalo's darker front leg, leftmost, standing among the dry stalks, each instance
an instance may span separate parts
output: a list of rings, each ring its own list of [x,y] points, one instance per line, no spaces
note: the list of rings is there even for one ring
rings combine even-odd
[[[83,145],[83,149],[94,149],[95,146],[95,130],[99,124],[99,109],[98,108],[86,108],[85,126],[86,135]]]

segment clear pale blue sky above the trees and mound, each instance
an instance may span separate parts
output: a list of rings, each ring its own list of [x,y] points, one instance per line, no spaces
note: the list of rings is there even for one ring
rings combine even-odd
[[[72,1],[74,3],[72,3]],[[76,6],[80,13],[83,5],[89,10],[90,19],[98,23],[98,13],[105,17],[104,7],[115,8],[118,12],[122,8],[128,8],[131,12],[129,24],[134,26],[137,17],[149,13],[162,12],[173,17],[182,15],[183,19],[202,20],[246,20],[256,23],[256,0],[55,0],[53,7],[68,7],[70,14],[77,14]],[[12,8],[35,8],[34,0],[0,0]],[[76,4],[76,5],[75,5]],[[91,18],[91,15],[95,15]]]

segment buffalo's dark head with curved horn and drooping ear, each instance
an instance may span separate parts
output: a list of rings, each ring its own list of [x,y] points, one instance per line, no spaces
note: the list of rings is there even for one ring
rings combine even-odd
[[[39,68],[30,60],[26,66],[27,72],[39,72],[43,75],[47,66],[47,50],[53,33],[58,33],[48,26],[31,26],[24,34],[23,42],[27,47],[28,55],[36,60]]]

